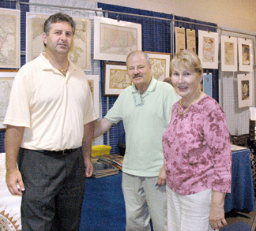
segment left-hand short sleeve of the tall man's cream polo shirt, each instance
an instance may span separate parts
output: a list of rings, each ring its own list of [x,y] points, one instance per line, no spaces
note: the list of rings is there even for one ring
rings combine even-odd
[[[28,80],[21,73],[13,80],[9,104],[3,125],[13,125],[30,128]]]

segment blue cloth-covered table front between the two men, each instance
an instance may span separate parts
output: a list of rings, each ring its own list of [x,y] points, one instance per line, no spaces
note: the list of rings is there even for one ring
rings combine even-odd
[[[122,172],[85,181],[80,231],[125,231],[126,211],[122,196]]]

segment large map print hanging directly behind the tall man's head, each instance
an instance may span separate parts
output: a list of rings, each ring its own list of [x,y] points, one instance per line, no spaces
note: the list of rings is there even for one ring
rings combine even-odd
[[[26,61],[31,61],[45,51],[43,46],[43,24],[50,14],[27,12]],[[70,60],[81,67],[91,69],[91,20],[72,17],[76,22],[73,46],[69,53]]]

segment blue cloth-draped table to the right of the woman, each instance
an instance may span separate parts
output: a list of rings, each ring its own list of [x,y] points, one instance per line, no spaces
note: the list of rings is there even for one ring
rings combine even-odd
[[[232,151],[232,193],[226,195],[224,210],[232,209],[255,211],[250,149]]]

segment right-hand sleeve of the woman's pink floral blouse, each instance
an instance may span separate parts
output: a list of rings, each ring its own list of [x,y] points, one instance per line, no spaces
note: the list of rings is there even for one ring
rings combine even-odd
[[[231,192],[232,151],[228,125],[223,110],[212,110],[205,117],[205,139],[212,152],[214,174],[212,188],[216,192]]]

